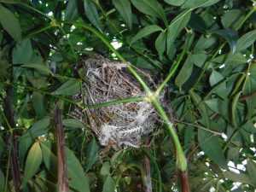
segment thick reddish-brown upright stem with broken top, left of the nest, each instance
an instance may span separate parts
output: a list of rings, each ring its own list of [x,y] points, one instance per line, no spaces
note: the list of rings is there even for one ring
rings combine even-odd
[[[63,133],[61,109],[55,108],[55,132],[58,163],[58,192],[68,192],[67,157],[65,151],[65,138]]]

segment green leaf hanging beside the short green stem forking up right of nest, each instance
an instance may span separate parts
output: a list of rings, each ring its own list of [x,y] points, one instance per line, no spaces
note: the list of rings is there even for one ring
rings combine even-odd
[[[175,79],[175,84],[181,89],[183,84],[189,79],[191,73],[193,71],[193,63],[191,61],[191,55],[189,54],[188,58],[183,64],[183,67],[180,69],[177,74],[177,78]]]

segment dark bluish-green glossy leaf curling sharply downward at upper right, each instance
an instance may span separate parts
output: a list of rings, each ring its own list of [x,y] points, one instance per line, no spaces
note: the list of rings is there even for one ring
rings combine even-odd
[[[216,30],[209,30],[207,32],[218,34],[220,37],[224,38],[230,44],[230,52],[232,55],[236,51],[236,44],[238,35],[235,30],[232,29],[216,29]]]

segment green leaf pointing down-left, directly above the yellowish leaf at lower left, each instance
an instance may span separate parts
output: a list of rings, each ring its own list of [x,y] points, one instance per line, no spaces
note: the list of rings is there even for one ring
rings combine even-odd
[[[38,120],[31,128],[29,128],[21,137],[23,138],[31,138],[31,137],[38,137],[46,134],[48,132],[50,124],[50,118],[46,117],[44,119]]]

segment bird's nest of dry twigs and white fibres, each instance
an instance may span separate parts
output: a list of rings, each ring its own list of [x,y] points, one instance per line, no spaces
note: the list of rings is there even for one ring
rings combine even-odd
[[[73,99],[82,98],[84,104],[113,102],[134,96],[145,96],[141,85],[128,72],[129,63],[109,61],[101,55],[81,61],[85,73],[83,92]],[[80,69],[81,70],[81,69]],[[144,79],[153,82],[147,73],[140,72]],[[73,115],[83,120],[86,110],[90,127],[103,146],[134,147],[141,137],[154,131],[157,114],[149,102],[126,102],[102,108],[74,108]]]

